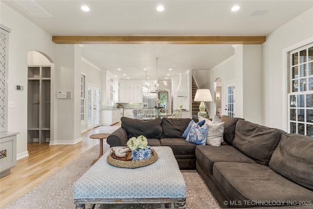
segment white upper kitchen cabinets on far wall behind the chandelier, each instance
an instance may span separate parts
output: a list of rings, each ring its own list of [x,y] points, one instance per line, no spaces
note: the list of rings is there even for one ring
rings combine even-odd
[[[119,102],[142,102],[141,81],[120,80]]]

